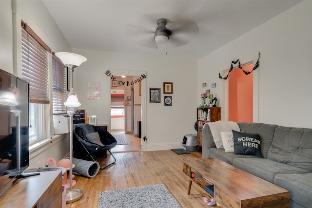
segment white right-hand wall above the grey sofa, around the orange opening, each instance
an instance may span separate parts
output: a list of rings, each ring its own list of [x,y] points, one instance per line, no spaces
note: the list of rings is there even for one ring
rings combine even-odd
[[[198,61],[198,83],[216,82],[231,61],[256,59],[259,70],[259,122],[312,128],[312,1],[305,0]],[[207,88],[208,89],[208,88]],[[198,96],[203,93],[198,85]],[[199,101],[198,101],[199,102]],[[220,99],[220,105],[222,100]]]

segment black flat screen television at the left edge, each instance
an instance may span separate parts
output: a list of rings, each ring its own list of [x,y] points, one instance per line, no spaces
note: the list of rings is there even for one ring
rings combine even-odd
[[[0,196],[29,165],[28,127],[29,83],[0,69]]]

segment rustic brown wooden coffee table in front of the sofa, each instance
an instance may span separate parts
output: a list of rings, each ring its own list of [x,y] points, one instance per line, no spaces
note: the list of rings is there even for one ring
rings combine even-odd
[[[183,172],[190,177],[188,195],[193,181],[203,189],[213,184],[215,201],[225,208],[289,208],[288,190],[221,160],[186,160]]]

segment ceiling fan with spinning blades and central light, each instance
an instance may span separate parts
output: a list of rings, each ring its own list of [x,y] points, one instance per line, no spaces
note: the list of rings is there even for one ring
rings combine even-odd
[[[126,33],[140,37],[138,44],[151,48],[155,48],[157,44],[165,43],[169,47],[180,47],[191,42],[199,33],[198,25],[193,20],[180,19],[172,21],[166,18],[160,18],[156,20],[156,23],[157,27],[154,31],[147,29],[147,27],[151,28],[152,25],[146,25],[145,27],[142,25],[128,24]],[[154,34],[154,38],[152,34]]]

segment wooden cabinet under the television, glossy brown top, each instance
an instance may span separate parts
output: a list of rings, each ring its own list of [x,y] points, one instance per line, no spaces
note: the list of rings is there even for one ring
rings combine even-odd
[[[0,196],[0,208],[61,208],[61,171],[40,172],[40,175],[16,179]]]

